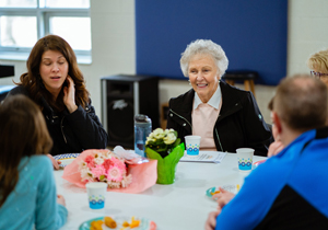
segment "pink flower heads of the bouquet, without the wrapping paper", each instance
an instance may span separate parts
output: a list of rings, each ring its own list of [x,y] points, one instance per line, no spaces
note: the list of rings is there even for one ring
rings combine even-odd
[[[132,182],[132,175],[127,175],[127,165],[122,158],[112,151],[89,154],[80,162],[82,182],[104,182],[110,188],[127,187]]]

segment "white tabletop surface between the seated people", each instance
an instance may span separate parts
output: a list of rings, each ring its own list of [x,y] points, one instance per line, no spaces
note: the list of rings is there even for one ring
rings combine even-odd
[[[140,194],[107,192],[105,208],[89,208],[85,188],[61,179],[62,170],[55,171],[57,193],[66,198],[68,222],[61,229],[79,229],[90,219],[102,216],[136,216],[153,220],[159,230],[203,229],[208,214],[216,203],[206,191],[224,184],[243,184],[248,173],[237,169],[236,153],[227,153],[219,164],[179,162],[172,185],[155,184]],[[266,159],[254,157],[254,162]]]

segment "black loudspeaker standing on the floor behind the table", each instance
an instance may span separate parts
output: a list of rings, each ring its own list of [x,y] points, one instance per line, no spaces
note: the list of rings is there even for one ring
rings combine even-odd
[[[159,78],[151,76],[109,76],[101,78],[102,123],[108,146],[134,148],[134,115],[152,119],[160,127]]]

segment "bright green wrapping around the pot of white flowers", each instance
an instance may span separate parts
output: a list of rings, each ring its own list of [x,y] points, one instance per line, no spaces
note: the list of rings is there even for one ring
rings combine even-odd
[[[157,160],[157,184],[173,184],[175,181],[175,169],[185,152],[185,145],[180,143],[173,151],[162,158],[156,151],[145,148],[147,157]]]

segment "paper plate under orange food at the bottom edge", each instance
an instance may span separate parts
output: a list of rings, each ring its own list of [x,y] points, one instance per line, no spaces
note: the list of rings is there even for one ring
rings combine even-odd
[[[125,221],[130,223],[132,217],[112,217],[112,218],[116,221],[117,227],[114,229],[117,229],[117,230],[119,230],[119,229],[155,230],[156,229],[156,223],[154,221],[148,220],[145,218],[134,217],[136,220],[141,220],[139,227],[136,227],[136,228],[129,228],[129,227],[124,228],[122,227],[122,223]],[[79,227],[79,230],[90,230],[91,222],[96,221],[96,220],[104,220],[104,217],[98,217],[98,218],[94,218],[94,219],[82,222],[81,226]],[[102,228],[103,228],[103,230],[113,230],[112,228],[106,227],[105,223],[103,223]]]

